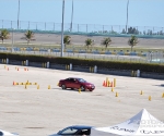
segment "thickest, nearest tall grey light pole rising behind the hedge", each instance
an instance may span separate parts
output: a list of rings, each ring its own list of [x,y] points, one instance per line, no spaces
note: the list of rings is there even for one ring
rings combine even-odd
[[[65,17],[65,0],[62,0],[61,57],[63,57],[63,17]]]

